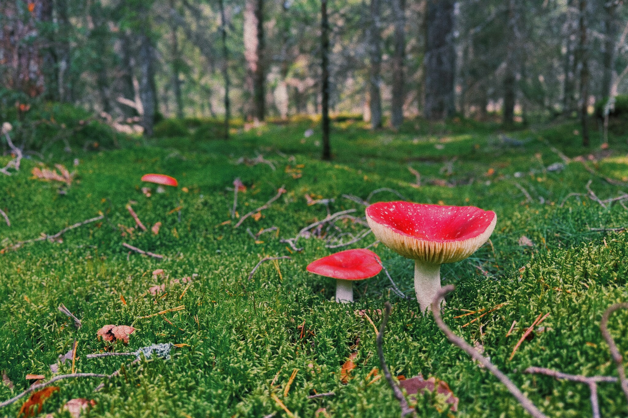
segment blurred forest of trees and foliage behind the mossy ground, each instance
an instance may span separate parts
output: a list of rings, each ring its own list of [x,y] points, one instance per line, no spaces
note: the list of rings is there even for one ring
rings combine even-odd
[[[26,135],[67,103],[122,132],[227,137],[322,115],[328,158],[328,117],[577,117],[587,145],[628,112],[627,22],[621,0],[4,0],[0,119]]]

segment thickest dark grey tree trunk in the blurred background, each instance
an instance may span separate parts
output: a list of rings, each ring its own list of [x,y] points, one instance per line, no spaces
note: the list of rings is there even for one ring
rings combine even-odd
[[[425,117],[436,120],[455,112],[453,78],[453,0],[427,0]]]

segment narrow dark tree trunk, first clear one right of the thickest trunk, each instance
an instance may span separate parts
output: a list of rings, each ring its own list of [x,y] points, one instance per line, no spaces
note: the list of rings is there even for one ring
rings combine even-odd
[[[517,100],[517,63],[519,59],[519,39],[517,28],[519,10],[516,0],[508,2],[508,44],[506,46],[506,68],[504,70],[504,115],[502,123],[506,127],[514,125],[514,107]]]

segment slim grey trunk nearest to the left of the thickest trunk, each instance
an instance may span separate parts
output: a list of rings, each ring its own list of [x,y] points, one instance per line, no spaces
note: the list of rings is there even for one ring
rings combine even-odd
[[[406,56],[406,1],[393,0],[394,55],[393,55],[393,100],[391,102],[391,125],[399,129],[403,123],[404,104],[404,58]]]

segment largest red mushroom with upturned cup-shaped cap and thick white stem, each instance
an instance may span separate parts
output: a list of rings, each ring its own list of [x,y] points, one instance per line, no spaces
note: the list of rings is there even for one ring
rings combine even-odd
[[[414,259],[414,291],[425,311],[440,290],[440,265],[475,253],[495,229],[497,216],[475,206],[379,202],[366,208],[366,220],[388,248]]]

